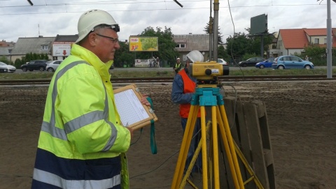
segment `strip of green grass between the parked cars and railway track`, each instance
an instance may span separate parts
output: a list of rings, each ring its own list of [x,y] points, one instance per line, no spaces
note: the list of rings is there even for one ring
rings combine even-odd
[[[174,77],[173,71],[167,70],[146,70],[146,71],[128,71],[127,69],[114,71],[111,70],[112,78],[125,77]],[[290,70],[272,70],[272,69],[246,69],[230,70],[230,75],[326,75],[325,68],[315,68],[312,70],[306,69],[290,69]],[[336,69],[332,70],[332,74],[336,74]],[[0,80],[37,80],[37,79],[51,79],[54,73],[33,71],[31,73],[0,73]]]

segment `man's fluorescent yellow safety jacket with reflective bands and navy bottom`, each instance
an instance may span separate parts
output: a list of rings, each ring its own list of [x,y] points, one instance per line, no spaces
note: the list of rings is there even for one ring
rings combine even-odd
[[[112,188],[120,178],[121,186],[129,188],[124,153],[131,138],[114,102],[112,63],[73,44],[57,68],[45,103],[32,188]]]

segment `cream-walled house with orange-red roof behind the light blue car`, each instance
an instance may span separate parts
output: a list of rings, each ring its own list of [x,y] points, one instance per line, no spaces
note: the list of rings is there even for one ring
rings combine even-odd
[[[336,47],[336,28],[332,28],[332,48]],[[276,49],[269,51],[269,56],[301,54],[308,45],[327,46],[327,29],[280,29]]]

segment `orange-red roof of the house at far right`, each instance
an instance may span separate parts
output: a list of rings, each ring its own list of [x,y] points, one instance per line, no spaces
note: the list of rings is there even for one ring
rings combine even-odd
[[[332,47],[336,47],[336,29],[332,29]],[[309,45],[309,36],[327,36],[327,29],[280,29],[279,36],[286,49],[302,49]],[[325,46],[325,45],[320,45]]]

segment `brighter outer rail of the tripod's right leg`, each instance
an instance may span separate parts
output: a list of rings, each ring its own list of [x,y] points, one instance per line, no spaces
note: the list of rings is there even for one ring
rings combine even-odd
[[[243,182],[243,179],[241,178],[241,172],[240,172],[240,169],[239,169],[237,154],[236,154],[236,151],[235,151],[235,144],[233,143],[233,139],[232,139],[229,123],[228,123],[228,118],[226,117],[226,112],[225,112],[224,105],[219,105],[219,110],[218,111],[221,113],[221,117],[223,118],[222,123],[223,123],[223,126],[224,126],[225,131],[226,131],[227,141],[228,141],[228,144],[230,146],[230,151],[231,151],[233,164],[235,165],[235,170],[237,172],[237,179],[238,179],[239,187],[244,188],[244,182]]]

